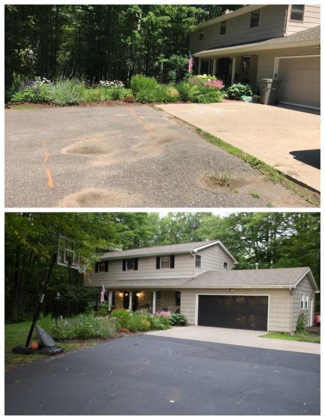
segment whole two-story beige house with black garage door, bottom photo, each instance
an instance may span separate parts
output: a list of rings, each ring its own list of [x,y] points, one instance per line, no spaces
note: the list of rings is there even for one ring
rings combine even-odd
[[[219,240],[110,251],[84,282],[104,284],[110,309],[179,310],[194,325],[292,332],[300,313],[313,325],[319,291],[308,267],[235,264]]]

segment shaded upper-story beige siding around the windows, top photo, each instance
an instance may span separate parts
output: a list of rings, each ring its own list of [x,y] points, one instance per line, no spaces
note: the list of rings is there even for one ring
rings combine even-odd
[[[256,8],[258,10],[258,8]],[[190,51],[197,53],[206,49],[227,47],[228,45],[245,44],[269,38],[277,38],[285,34],[285,18],[287,5],[267,5],[261,8],[260,25],[250,29],[250,12],[230,18],[227,21],[226,34],[219,36],[220,23],[202,28],[204,40],[199,40],[200,29],[190,34]]]

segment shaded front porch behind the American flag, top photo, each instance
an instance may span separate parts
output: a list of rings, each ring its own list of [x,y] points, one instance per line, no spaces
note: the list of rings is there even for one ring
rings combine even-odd
[[[258,55],[229,55],[206,57],[198,62],[198,74],[213,75],[226,86],[234,83],[256,84]]]

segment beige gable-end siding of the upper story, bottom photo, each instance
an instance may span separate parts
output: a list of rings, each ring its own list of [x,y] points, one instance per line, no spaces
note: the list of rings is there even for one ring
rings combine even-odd
[[[217,249],[217,250],[216,250]],[[201,256],[201,268],[195,267],[195,277],[206,271],[219,271],[224,269],[224,262],[228,262],[228,268],[232,269],[234,263],[226,252],[219,247],[219,245],[213,245],[212,247],[200,249],[197,254]]]

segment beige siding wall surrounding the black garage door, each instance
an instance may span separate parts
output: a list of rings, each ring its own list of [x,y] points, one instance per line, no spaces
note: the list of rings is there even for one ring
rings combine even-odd
[[[187,323],[195,325],[196,295],[229,295],[226,289],[182,289],[180,312],[186,315]],[[233,295],[269,295],[269,331],[290,332],[291,295],[288,289],[236,289]]]

